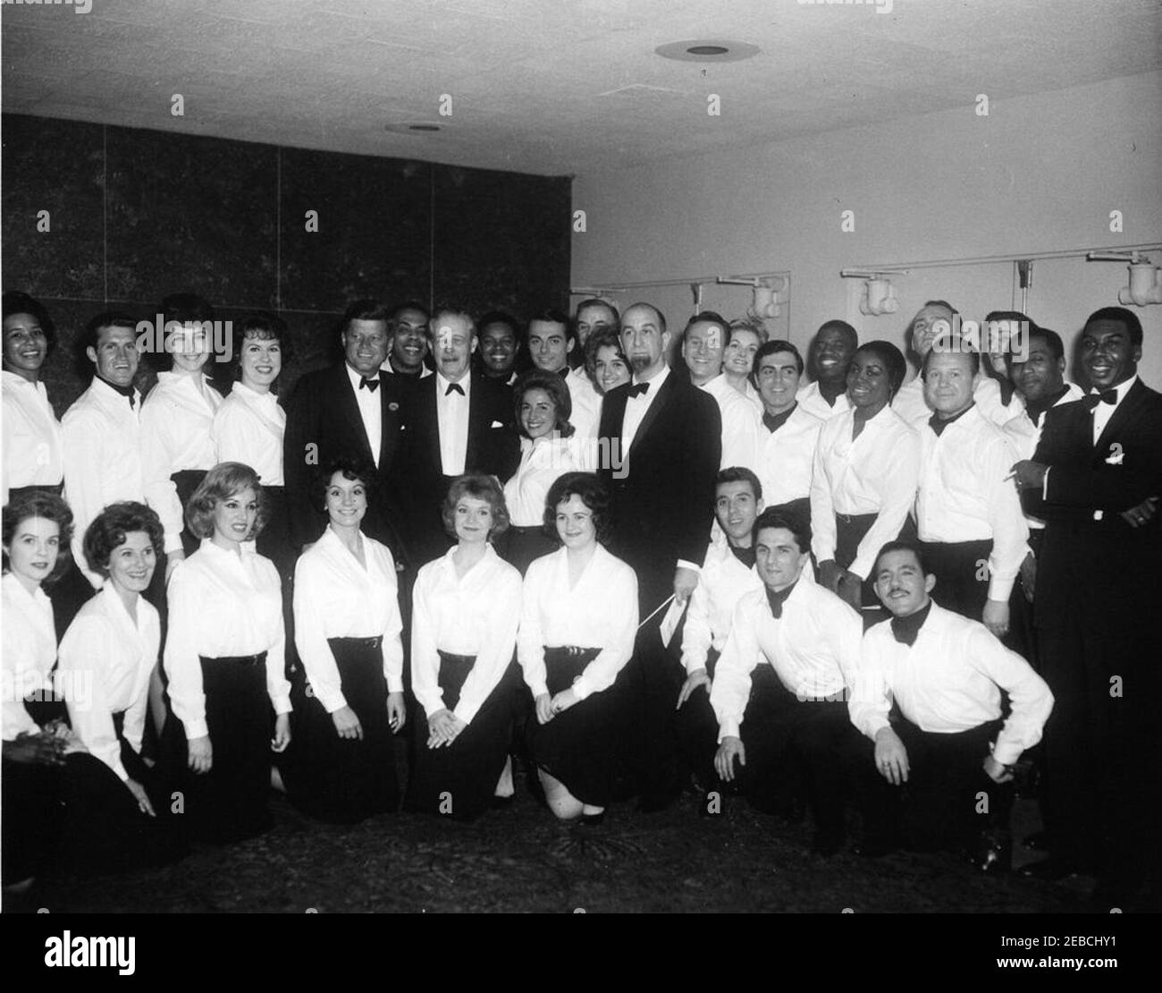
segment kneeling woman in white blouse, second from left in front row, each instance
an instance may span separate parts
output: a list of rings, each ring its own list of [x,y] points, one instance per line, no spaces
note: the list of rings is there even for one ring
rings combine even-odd
[[[105,584],[60,641],[57,679],[73,733],[112,773],[79,790],[72,786],[70,844],[88,850],[80,860],[91,866],[129,867],[180,853],[167,826],[168,791],[142,758],[162,629],[157,610],[141,594],[153,578],[162,542],[162,521],[144,503],[106,507],[84,543],[89,569]],[[117,785],[113,795],[108,783]],[[76,802],[78,792],[84,803]]]

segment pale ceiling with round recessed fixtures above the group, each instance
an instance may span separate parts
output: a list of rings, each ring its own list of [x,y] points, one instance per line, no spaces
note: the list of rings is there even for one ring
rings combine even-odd
[[[1162,69],[1160,0],[91,2],[0,7],[5,110],[548,174]],[[654,55],[687,38],[761,52]]]

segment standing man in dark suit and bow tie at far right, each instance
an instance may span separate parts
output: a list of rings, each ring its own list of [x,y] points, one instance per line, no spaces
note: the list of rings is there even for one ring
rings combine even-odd
[[[1025,873],[1096,871],[1099,900],[1159,909],[1162,394],[1138,378],[1141,355],[1136,315],[1091,314],[1090,394],[1046,412],[1033,459],[1013,466],[1026,512],[1046,521],[1033,609],[1057,699],[1045,731],[1052,856]]]

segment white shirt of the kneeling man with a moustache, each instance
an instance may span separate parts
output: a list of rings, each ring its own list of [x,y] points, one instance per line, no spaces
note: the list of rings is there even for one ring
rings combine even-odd
[[[933,602],[912,645],[896,641],[890,621],[868,628],[848,710],[852,723],[873,741],[889,727],[892,700],[920,730],[956,734],[999,717],[1002,690],[1012,712],[992,757],[1011,765],[1041,740],[1053,694],[984,624]]]

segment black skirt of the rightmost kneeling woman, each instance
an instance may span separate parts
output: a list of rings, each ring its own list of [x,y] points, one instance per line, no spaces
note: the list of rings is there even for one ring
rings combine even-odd
[[[546,648],[550,695],[568,690],[600,652],[596,648]],[[594,807],[607,806],[612,792],[618,699],[615,684],[557,714],[547,724],[533,719],[526,730],[533,763],[582,803]]]

